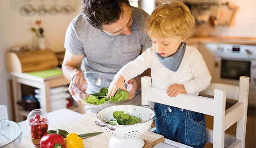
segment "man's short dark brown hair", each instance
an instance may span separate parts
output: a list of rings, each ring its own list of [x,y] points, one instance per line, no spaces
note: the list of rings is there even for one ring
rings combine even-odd
[[[123,4],[130,6],[129,0],[83,0],[82,13],[90,25],[102,30],[101,25],[110,25],[120,19]]]

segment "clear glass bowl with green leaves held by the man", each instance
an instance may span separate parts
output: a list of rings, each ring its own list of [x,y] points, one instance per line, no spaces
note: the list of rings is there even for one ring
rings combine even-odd
[[[108,75],[97,72],[81,72],[81,79],[72,78],[72,87],[77,99],[84,105],[101,106],[107,104],[107,93],[100,92],[101,88],[108,88],[112,82],[112,78]],[[101,96],[94,93],[101,93]],[[104,94],[104,95],[102,95]]]

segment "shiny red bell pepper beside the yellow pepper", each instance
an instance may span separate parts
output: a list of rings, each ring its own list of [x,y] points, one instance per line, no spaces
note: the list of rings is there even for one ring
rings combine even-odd
[[[65,148],[65,142],[61,135],[47,134],[40,140],[41,148]]]

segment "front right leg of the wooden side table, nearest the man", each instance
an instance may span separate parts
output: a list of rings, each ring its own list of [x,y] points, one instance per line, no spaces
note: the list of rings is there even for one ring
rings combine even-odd
[[[50,102],[50,86],[47,81],[44,81],[41,89],[40,107],[46,112],[51,112]]]

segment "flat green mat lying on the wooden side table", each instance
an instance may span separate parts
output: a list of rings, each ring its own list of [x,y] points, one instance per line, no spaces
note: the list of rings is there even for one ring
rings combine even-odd
[[[57,75],[62,75],[63,72],[60,69],[49,69],[49,70],[42,70],[42,71],[34,71],[27,74],[41,77],[41,78],[49,78]]]

